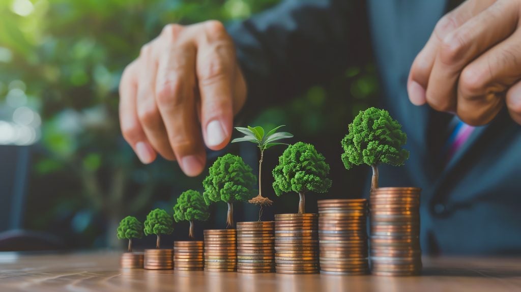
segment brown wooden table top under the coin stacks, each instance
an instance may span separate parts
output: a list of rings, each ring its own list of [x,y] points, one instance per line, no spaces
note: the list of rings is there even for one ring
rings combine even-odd
[[[425,258],[415,277],[119,270],[120,253],[0,252],[0,291],[521,291],[521,258]]]

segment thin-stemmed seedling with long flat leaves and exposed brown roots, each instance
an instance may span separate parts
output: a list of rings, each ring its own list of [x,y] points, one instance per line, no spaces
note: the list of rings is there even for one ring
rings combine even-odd
[[[270,206],[271,204],[273,204],[272,200],[262,196],[261,177],[262,177],[262,161],[264,158],[264,150],[266,150],[272,146],[275,146],[275,145],[288,145],[286,143],[278,143],[275,141],[293,137],[293,134],[288,133],[288,132],[276,133],[277,130],[280,129],[282,126],[284,126],[284,125],[280,125],[280,126],[276,127],[275,129],[269,131],[266,135],[264,135],[264,129],[261,126],[256,126],[254,128],[252,128],[251,126],[248,126],[248,128],[236,127],[235,129],[237,129],[237,131],[245,134],[245,136],[241,137],[241,138],[235,138],[231,142],[231,143],[243,142],[243,141],[252,142],[252,143],[257,144],[257,147],[259,147],[259,149],[261,149],[261,160],[259,160],[259,193],[255,198],[248,201],[248,202],[250,202],[250,204],[259,205],[261,207],[261,209],[259,210],[259,221],[261,221],[263,206],[265,206],[265,205]]]

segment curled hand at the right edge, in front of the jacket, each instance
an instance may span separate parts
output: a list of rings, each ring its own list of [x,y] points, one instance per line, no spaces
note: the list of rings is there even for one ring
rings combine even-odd
[[[482,125],[506,101],[521,124],[520,26],[521,0],[467,0],[445,15],[413,62],[412,103]]]

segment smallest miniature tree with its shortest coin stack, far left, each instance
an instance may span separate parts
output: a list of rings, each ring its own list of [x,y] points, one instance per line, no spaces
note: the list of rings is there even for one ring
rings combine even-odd
[[[132,252],[132,238],[143,237],[143,224],[135,217],[127,216],[119,222],[117,236],[129,240],[128,252],[121,256],[121,268],[143,268],[143,253]]]

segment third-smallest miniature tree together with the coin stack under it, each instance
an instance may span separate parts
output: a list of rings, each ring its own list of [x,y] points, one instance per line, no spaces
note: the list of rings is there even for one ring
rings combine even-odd
[[[210,213],[200,192],[189,189],[177,198],[173,207],[173,219],[176,222],[189,221],[188,236],[194,238],[194,220],[206,221]],[[174,269],[182,271],[200,271],[204,268],[202,241],[177,241],[173,243]]]

